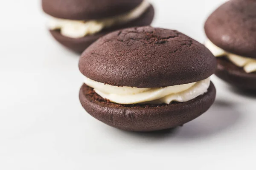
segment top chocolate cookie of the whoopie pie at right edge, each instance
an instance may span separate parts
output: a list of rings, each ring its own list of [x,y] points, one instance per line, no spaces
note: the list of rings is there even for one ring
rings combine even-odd
[[[256,0],[230,0],[205,23],[209,40],[233,54],[256,58]]]

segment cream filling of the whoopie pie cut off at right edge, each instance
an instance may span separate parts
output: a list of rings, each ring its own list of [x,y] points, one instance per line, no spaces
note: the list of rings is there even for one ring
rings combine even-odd
[[[246,73],[256,71],[256,59],[242,57],[236,54],[229,53],[213,44],[209,39],[206,40],[205,46],[212,52],[215,57],[227,56],[227,58],[238,67],[243,67]]]

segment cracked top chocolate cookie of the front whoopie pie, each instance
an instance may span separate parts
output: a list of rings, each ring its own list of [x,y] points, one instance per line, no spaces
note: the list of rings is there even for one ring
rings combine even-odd
[[[197,82],[214,74],[216,59],[201,43],[150,26],[110,33],[79,61],[86,77],[115,86],[156,88]]]

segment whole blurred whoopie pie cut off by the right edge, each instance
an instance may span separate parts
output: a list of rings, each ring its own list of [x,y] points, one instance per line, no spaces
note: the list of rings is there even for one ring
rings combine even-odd
[[[238,88],[256,90],[256,1],[230,0],[205,23],[205,45],[218,57],[216,75]]]

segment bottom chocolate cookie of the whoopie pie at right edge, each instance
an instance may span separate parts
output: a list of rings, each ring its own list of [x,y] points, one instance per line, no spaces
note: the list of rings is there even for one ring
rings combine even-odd
[[[246,73],[243,68],[234,65],[225,57],[218,57],[217,62],[215,74],[219,78],[238,88],[256,90],[256,73]]]

